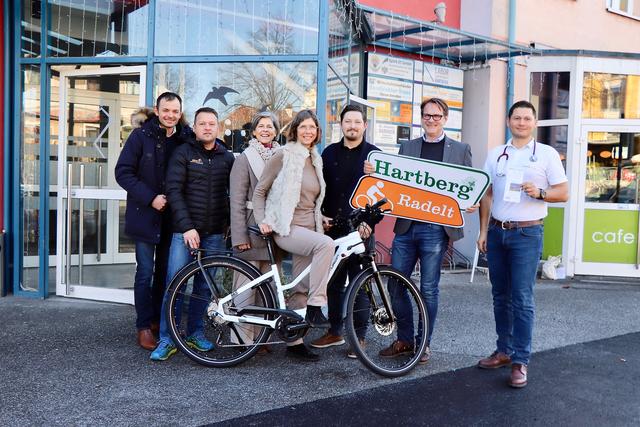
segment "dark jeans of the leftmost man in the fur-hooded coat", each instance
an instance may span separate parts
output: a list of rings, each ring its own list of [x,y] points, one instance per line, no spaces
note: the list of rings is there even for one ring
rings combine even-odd
[[[163,233],[160,243],[136,241],[136,275],[133,294],[136,307],[136,328],[149,329],[160,321],[164,296],[171,233]]]

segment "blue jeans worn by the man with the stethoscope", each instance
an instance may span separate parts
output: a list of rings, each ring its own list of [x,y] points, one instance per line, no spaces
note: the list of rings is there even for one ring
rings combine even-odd
[[[531,356],[533,285],[542,255],[542,234],[542,225],[503,230],[490,224],[487,236],[496,347],[511,355],[513,363],[524,365]]]

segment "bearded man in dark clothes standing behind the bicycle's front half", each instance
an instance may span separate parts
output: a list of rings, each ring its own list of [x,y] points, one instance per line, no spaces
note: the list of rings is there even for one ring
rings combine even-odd
[[[346,217],[351,213],[353,208],[349,204],[349,199],[358,184],[358,180],[364,175],[364,162],[370,152],[379,150],[378,147],[369,144],[364,139],[367,118],[360,107],[356,105],[344,107],[340,113],[340,127],[342,128],[343,138],[339,142],[329,145],[322,152],[322,173],[327,185],[324,203],[322,204],[322,214],[329,218],[335,218],[338,215]],[[363,224],[360,234],[363,238],[369,236],[370,229],[366,224]],[[327,235],[337,239],[344,236],[345,233],[344,230],[329,228]],[[368,240],[370,247],[374,243],[373,238]],[[327,299],[331,327],[326,334],[311,342],[312,347],[326,348],[344,344],[344,338],[342,337],[344,284],[347,274],[349,280],[352,280],[361,271],[362,267],[357,258],[354,257],[349,260],[347,267],[336,274],[334,280],[329,283]],[[366,296],[358,295],[357,307],[362,307],[365,304],[367,304]],[[357,312],[362,313],[362,316],[359,319],[355,319],[357,322],[356,332],[360,341],[364,341],[368,310],[357,310]],[[349,350],[347,357],[356,358],[356,355],[352,350]]]

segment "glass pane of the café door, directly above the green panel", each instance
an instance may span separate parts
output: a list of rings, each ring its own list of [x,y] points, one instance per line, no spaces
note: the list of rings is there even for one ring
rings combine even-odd
[[[640,133],[589,132],[585,200],[639,203]]]

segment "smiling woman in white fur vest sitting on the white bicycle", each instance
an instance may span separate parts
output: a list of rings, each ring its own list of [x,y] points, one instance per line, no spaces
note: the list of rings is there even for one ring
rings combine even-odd
[[[291,122],[289,142],[267,162],[253,192],[253,215],[265,233],[274,233],[276,244],[293,255],[293,274],[309,264],[311,273],[293,289],[290,309],[307,306],[307,322],[328,328],[321,306],[327,303],[327,281],[334,253],[333,240],[324,235],[320,207],[324,199],[322,158],[316,144],[321,131],[311,110],[300,111]],[[316,361],[302,340],[291,343],[287,354]]]

